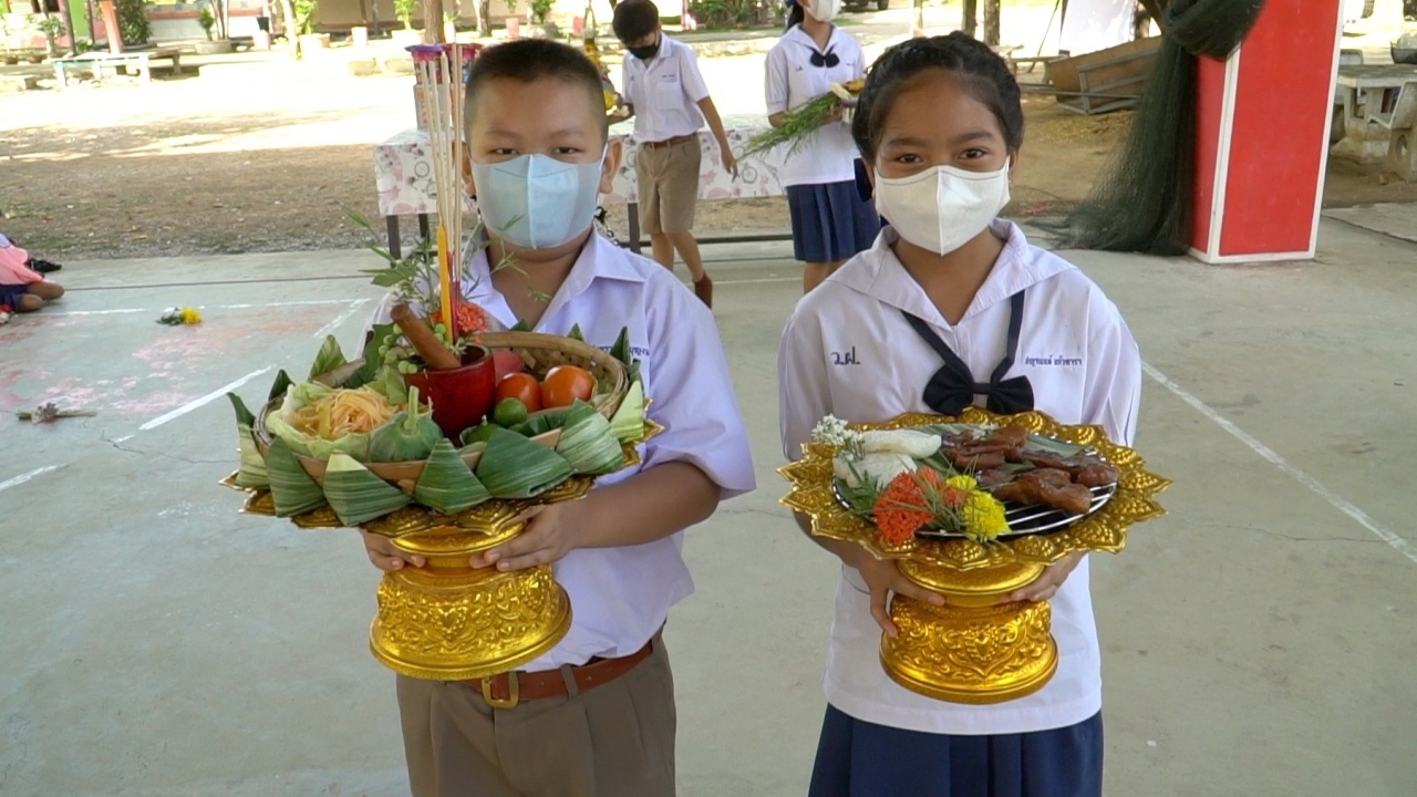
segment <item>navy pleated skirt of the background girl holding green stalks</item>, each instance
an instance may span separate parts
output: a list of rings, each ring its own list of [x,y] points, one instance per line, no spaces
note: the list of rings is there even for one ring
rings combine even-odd
[[[854,180],[788,186],[792,254],[802,262],[836,262],[871,248],[880,217],[863,200]]]

